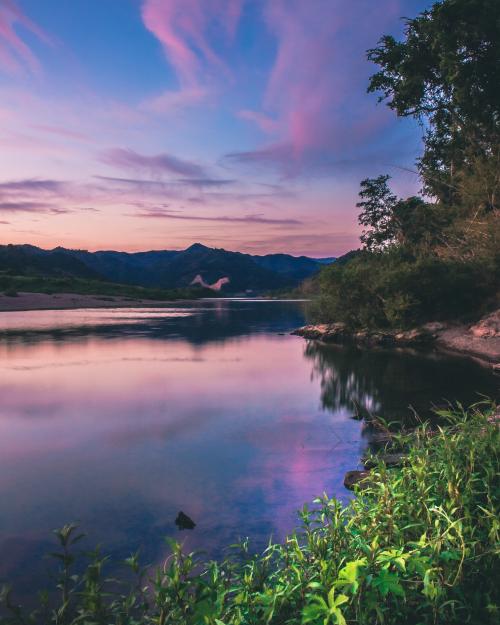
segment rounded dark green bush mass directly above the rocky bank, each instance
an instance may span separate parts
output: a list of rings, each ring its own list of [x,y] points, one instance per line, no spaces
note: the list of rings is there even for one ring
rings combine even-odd
[[[467,318],[487,307],[499,280],[495,260],[415,258],[401,249],[364,252],[344,265],[323,269],[312,314],[353,328]]]

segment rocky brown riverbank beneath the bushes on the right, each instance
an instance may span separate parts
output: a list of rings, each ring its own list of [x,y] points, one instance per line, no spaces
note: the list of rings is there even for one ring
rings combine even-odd
[[[367,347],[434,346],[500,369],[500,310],[469,325],[436,322],[411,330],[351,331],[344,323],[324,323],[303,326],[292,334],[324,343],[356,343]]]

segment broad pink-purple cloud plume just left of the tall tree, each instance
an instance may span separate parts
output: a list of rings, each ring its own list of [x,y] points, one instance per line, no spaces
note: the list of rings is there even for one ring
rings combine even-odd
[[[242,111],[274,134],[271,145],[239,155],[273,162],[287,175],[346,158],[379,132],[389,116],[365,96],[371,68],[365,50],[399,16],[397,0],[267,0],[264,20],[278,48],[262,100],[263,111]],[[231,155],[238,160],[238,155]]]

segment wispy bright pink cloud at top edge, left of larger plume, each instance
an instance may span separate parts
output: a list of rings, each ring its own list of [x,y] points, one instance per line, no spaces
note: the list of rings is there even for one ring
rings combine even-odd
[[[242,5],[243,0],[144,0],[144,25],[160,41],[182,87],[198,85],[207,66],[227,71],[212,39],[234,37]]]

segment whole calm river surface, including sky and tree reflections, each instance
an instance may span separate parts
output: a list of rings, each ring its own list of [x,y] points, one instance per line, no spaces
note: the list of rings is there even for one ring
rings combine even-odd
[[[307,343],[289,335],[303,322],[301,303],[227,300],[1,313],[0,581],[38,584],[70,521],[115,559],[158,562],[164,536],[261,549],[305,502],[348,496],[360,408],[404,419],[498,395],[470,360]]]

